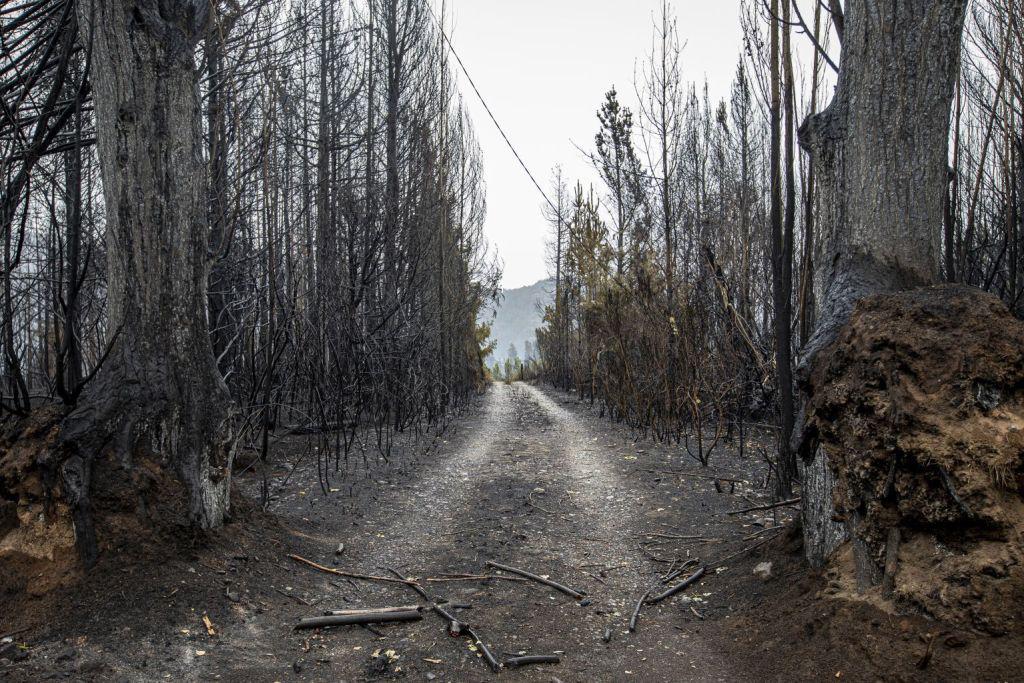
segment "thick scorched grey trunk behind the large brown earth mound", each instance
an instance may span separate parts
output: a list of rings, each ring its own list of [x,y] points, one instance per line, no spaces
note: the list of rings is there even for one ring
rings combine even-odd
[[[838,3],[835,3],[838,4]],[[949,108],[965,0],[849,0],[835,98],[801,128],[821,173],[814,246],[818,326],[804,349],[806,380],[861,298],[933,283],[947,182]],[[824,558],[856,525],[831,520],[827,454],[801,434],[808,557]]]

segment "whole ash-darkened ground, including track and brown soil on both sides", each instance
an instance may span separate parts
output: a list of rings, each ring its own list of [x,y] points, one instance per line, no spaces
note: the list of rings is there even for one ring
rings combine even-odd
[[[767,447],[770,439],[750,440]],[[515,384],[492,386],[429,455],[410,446],[389,462],[353,458],[328,495],[314,459],[292,471],[297,453],[293,440],[276,450],[269,511],[243,505],[218,533],[109,551],[88,577],[56,587],[42,575],[0,575],[0,642],[18,631],[0,644],[0,681],[1021,676],[1018,635],[993,639],[900,614],[854,598],[836,574],[808,571],[795,509],[728,514],[768,502],[757,447],[740,459],[721,445],[701,468],[681,446],[636,441],[568,396]],[[239,481],[242,501],[257,496],[258,475]],[[500,659],[557,653],[561,661],[492,673],[479,647],[449,636],[427,611],[372,630],[295,631],[328,609],[425,603],[408,586],[325,573],[290,554],[378,577],[397,568],[450,600]],[[668,588],[659,578],[686,559],[708,565],[706,575],[644,606],[630,633],[638,600]],[[428,580],[496,573],[488,560],[588,597],[526,581]],[[754,572],[763,562],[768,578]]]

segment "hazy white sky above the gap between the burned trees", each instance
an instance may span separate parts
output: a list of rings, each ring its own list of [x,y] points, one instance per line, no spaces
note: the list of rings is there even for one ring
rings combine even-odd
[[[596,112],[612,85],[636,112],[634,76],[651,49],[660,0],[446,1],[456,50],[545,190],[559,163],[570,182],[596,182],[573,143],[593,147]],[[725,95],[742,44],[738,0],[672,4],[684,77],[707,76],[712,96]],[[462,91],[483,148],[486,234],[505,262],[504,286],[532,284],[547,275],[544,200],[467,83]]]

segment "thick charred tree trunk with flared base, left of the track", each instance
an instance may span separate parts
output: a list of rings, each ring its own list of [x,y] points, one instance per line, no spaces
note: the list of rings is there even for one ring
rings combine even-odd
[[[152,458],[187,492],[191,521],[228,510],[231,409],[207,328],[206,169],[194,52],[210,3],[95,0],[78,7],[92,40],[92,87],[106,208],[113,348],[66,419],[52,465],[85,563],[96,557],[90,480],[114,450]],[[95,474],[95,477],[94,477]]]

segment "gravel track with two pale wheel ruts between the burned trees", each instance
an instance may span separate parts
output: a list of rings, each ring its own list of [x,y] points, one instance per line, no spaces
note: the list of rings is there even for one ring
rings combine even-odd
[[[637,600],[648,588],[659,586],[657,577],[669,568],[645,556],[639,533],[672,533],[675,528],[676,533],[700,535],[708,529],[691,528],[680,509],[670,511],[670,501],[656,505],[657,499],[639,493],[636,482],[626,479],[629,468],[623,466],[635,462],[636,456],[629,454],[636,447],[621,435],[609,435],[607,425],[591,423],[535,387],[496,386],[485,396],[480,416],[464,428],[453,447],[442,451],[419,477],[388,484],[358,526],[345,528],[336,519],[323,518],[316,525],[319,548],[309,552],[324,561],[337,541],[343,541],[347,550],[340,564],[345,568],[382,573],[399,567],[416,577],[480,573],[484,562],[494,560],[550,574],[585,591],[589,600],[583,606],[531,583],[426,584],[435,595],[473,605],[460,616],[499,657],[563,653],[557,667],[506,672],[506,679],[735,680],[715,643],[690,628],[697,620],[680,606],[686,598],[646,608],[638,633],[628,633]],[[699,549],[699,544],[673,547],[681,557],[696,555]],[[416,598],[402,587],[352,586],[306,572],[296,577],[297,584],[309,582],[319,588],[309,587],[308,596],[330,590],[334,597],[325,603],[335,605],[339,593],[342,602],[359,605],[401,604]],[[690,593],[701,596],[708,590],[700,584]],[[317,661],[319,667],[330,665],[332,676],[353,679],[372,677],[378,666],[385,675],[414,679],[427,674],[455,681],[493,677],[468,641],[447,637],[432,616],[389,627],[386,633],[377,641],[358,629],[312,636],[309,652],[298,657],[300,666],[313,665],[312,678],[327,675],[316,669]],[[231,657],[230,676],[262,672],[263,667],[253,668],[252,663],[259,660],[259,652],[276,649],[281,637],[280,632],[264,635],[269,640],[257,637],[245,645],[246,653]],[[397,658],[385,667],[384,657],[371,656],[377,649],[393,650]]]

